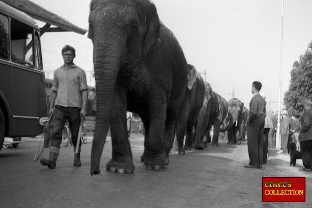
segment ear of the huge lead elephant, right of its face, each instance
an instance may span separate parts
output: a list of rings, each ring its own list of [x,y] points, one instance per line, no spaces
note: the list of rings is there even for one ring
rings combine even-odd
[[[142,5],[144,12],[145,26],[146,26],[146,37],[143,48],[144,56],[146,56],[151,49],[152,45],[159,38],[160,34],[160,21],[156,11],[156,7],[153,3],[146,3]]]

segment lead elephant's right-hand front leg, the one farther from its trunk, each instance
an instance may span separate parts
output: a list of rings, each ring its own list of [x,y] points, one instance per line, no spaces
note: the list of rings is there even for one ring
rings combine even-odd
[[[151,102],[149,105],[149,132],[144,141],[144,164],[148,170],[160,170],[168,164],[165,152],[165,122],[167,104]]]

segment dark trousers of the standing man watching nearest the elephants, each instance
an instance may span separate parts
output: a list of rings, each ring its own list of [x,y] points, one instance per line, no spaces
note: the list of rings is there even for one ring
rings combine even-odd
[[[254,119],[248,124],[247,130],[247,145],[250,159],[249,165],[262,165],[264,143],[264,116],[256,115]]]

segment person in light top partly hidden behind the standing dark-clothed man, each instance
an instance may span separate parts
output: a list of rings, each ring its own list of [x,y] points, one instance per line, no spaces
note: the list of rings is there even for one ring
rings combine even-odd
[[[260,93],[260,95],[265,100],[265,93]],[[273,133],[273,122],[272,122],[272,109],[270,104],[267,102],[265,106],[266,116],[264,118],[264,136],[265,141],[263,143],[263,164],[267,164],[267,156],[268,156],[268,147],[269,147],[269,137],[272,140]]]

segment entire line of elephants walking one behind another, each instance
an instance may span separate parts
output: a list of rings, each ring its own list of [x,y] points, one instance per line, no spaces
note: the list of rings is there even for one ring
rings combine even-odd
[[[229,132],[229,143],[237,142],[235,135],[243,126],[240,118],[245,118],[246,108],[238,99],[226,102],[204,83],[149,0],[92,0],[88,31],[94,46],[97,92],[91,175],[100,173],[109,128],[112,159],[106,170],[134,172],[126,111],[137,113],[143,122],[141,160],[148,170],[169,164],[175,134],[180,153],[193,146],[202,150],[214,125],[212,145],[218,146],[218,131],[227,115],[229,126],[222,131]],[[208,142],[204,144],[205,134]]]

